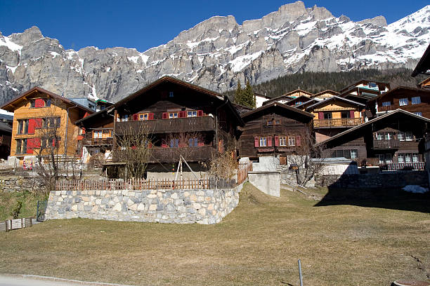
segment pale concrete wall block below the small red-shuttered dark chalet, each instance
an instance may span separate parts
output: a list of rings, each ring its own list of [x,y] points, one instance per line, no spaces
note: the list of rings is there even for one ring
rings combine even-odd
[[[252,171],[248,172],[248,179],[257,189],[271,196],[280,196],[280,172]]]

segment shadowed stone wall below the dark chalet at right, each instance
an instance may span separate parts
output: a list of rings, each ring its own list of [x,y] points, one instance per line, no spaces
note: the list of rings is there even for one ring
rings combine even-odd
[[[317,184],[337,189],[403,188],[407,185],[428,187],[426,171],[380,172],[378,174],[325,175]]]

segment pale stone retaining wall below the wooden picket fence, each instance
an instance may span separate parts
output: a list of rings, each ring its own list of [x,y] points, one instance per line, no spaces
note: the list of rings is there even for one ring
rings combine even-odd
[[[234,189],[51,191],[46,219],[216,224],[239,203]]]

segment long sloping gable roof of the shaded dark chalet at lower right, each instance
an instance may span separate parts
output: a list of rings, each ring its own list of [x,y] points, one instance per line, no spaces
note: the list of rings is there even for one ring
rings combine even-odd
[[[394,122],[393,119],[395,119],[395,118],[401,118],[402,121],[405,124],[408,124],[408,125],[410,125],[410,123],[406,122],[406,120],[405,120],[405,119],[408,119],[408,118],[416,120],[416,121],[421,121],[423,123],[430,123],[430,119],[429,118],[426,118],[426,117],[423,117],[423,116],[419,116],[417,114],[413,114],[413,113],[411,113],[409,111],[405,111],[403,109],[396,109],[396,110],[391,111],[391,112],[389,112],[387,114],[384,114],[382,116],[378,116],[377,118],[374,118],[374,119],[372,119],[370,121],[367,121],[367,122],[365,122],[363,124],[360,124],[360,125],[358,125],[356,127],[353,127],[353,128],[348,129],[348,130],[345,130],[344,132],[341,132],[341,133],[339,133],[337,135],[334,135],[333,137],[330,137],[329,139],[326,139],[325,141],[319,142],[319,143],[317,143],[315,145],[316,146],[323,145],[323,144],[327,145],[327,144],[330,144],[330,142],[333,142],[334,140],[341,139],[342,137],[346,137],[346,136],[361,137],[361,136],[363,136],[363,130],[365,128],[369,128],[374,123],[379,123],[381,121],[384,121],[386,123],[393,123]],[[329,148],[332,148],[332,147],[329,147]]]

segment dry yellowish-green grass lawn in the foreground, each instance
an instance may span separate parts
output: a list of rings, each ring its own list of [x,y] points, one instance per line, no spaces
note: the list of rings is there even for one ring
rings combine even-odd
[[[304,285],[428,279],[429,212],[315,203],[246,184],[239,205],[216,225],[48,221],[0,233],[0,273],[131,285],[299,285],[301,259]]]

